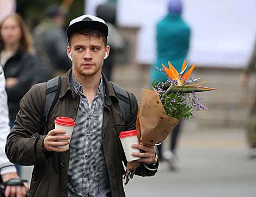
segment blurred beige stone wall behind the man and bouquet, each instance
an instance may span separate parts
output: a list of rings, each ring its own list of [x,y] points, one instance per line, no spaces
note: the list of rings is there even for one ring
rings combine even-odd
[[[133,92],[141,101],[141,89],[149,88],[149,66],[139,64],[135,56],[138,45],[138,28],[119,27],[120,33],[130,43],[128,58],[122,65],[115,65],[113,81]],[[184,121],[186,130],[202,130],[211,128],[241,128],[246,123],[249,106],[252,104],[253,92],[256,91],[256,74],[252,74],[247,87],[240,85],[240,68],[196,66],[192,73],[193,78],[203,77],[206,87],[217,90],[197,93],[203,97],[200,102],[208,107],[207,111],[198,111],[193,114],[196,118]],[[255,94],[254,94],[255,95]]]

